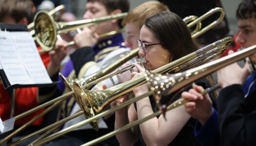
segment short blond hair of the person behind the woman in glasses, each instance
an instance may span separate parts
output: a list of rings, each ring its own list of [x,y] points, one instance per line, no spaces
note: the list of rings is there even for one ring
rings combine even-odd
[[[147,1],[140,4],[135,9],[128,12],[127,16],[123,19],[122,25],[134,22],[139,28],[142,27],[144,21],[151,16],[154,16],[163,11],[169,11],[168,7],[158,1]]]

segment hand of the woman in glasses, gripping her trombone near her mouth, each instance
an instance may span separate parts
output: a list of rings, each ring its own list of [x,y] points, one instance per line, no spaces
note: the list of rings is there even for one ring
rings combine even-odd
[[[138,69],[139,73],[133,72],[131,74],[132,79],[137,78],[138,76],[144,75],[144,73],[145,73],[145,69],[142,68],[137,63],[135,63],[135,67]],[[139,96],[139,95],[142,95],[142,94],[148,92],[148,90],[149,90],[148,85],[147,85],[147,83],[145,83],[145,84],[142,84],[142,85],[138,86],[137,88],[135,88],[133,90],[133,92],[134,92],[135,96]]]

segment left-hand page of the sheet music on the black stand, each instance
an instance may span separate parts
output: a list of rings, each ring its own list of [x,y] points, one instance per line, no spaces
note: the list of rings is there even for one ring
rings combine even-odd
[[[10,33],[5,31],[0,31],[0,62],[11,85],[33,83],[20,62],[20,55]]]

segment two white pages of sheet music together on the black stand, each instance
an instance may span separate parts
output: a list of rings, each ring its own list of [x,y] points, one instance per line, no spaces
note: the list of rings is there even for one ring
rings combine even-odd
[[[0,31],[0,62],[11,85],[52,83],[28,32]]]

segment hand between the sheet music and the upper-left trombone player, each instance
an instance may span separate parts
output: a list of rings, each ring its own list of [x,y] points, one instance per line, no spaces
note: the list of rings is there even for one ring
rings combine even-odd
[[[57,40],[56,47],[59,49],[55,49],[49,52],[51,61],[49,66],[47,67],[47,72],[50,76],[59,72],[60,63],[67,55],[67,42],[64,40]]]

